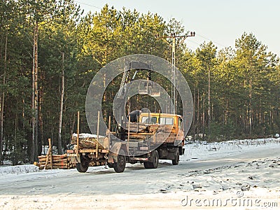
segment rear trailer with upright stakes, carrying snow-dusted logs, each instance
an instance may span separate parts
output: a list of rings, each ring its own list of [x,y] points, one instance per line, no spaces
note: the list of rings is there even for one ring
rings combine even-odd
[[[110,129],[106,137],[99,136],[99,116],[97,123],[97,134],[79,134],[79,119],[78,112],[77,134],[72,134],[71,144],[73,149],[67,150],[66,154],[72,161],[76,161],[76,169],[78,172],[87,172],[90,165],[108,165],[113,167],[115,172],[120,173],[125,170],[126,157],[123,152],[126,148],[125,142],[116,142],[114,147],[110,149]],[[111,120],[110,120],[111,121]],[[110,127],[110,125],[109,125]]]

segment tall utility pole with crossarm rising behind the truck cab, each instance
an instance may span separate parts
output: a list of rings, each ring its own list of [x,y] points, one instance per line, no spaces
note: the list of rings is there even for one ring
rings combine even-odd
[[[165,38],[172,38],[172,45],[168,43],[172,47],[172,86],[171,86],[171,99],[173,101],[174,105],[174,111],[177,112],[177,97],[176,97],[176,70],[175,70],[175,51],[176,51],[176,38],[183,38],[183,41],[185,41],[186,38],[189,36],[195,36],[195,32],[192,31],[190,34],[187,35],[176,35],[175,33],[172,33],[170,36],[159,36],[158,34],[155,34],[155,38],[162,38],[165,42]],[[171,109],[172,106],[170,106]]]

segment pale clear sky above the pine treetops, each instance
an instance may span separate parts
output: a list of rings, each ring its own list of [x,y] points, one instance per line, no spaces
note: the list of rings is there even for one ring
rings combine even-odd
[[[108,3],[117,10],[123,7],[139,13],[158,13],[165,21],[175,18],[195,37],[186,40],[195,50],[204,41],[212,41],[218,49],[235,47],[235,39],[244,32],[253,33],[268,50],[280,57],[280,1],[277,0],[77,0],[87,13],[99,12]]]

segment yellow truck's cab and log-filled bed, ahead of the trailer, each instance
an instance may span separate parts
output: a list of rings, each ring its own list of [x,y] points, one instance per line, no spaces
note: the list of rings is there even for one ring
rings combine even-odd
[[[128,133],[127,127],[120,133],[120,139],[128,139],[127,141],[130,142],[130,155],[137,156],[137,153],[145,153],[140,155],[145,156],[151,151],[158,159],[172,160],[173,165],[179,164],[179,155],[184,153],[181,116],[170,113],[141,113],[139,123],[130,123],[130,137]],[[137,148],[132,142],[137,142]],[[143,146],[145,143],[149,145],[148,149]],[[154,165],[144,162],[144,166],[156,168],[158,162]]]

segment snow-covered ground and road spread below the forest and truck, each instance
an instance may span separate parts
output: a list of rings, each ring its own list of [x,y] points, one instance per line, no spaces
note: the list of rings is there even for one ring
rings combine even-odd
[[[32,171],[34,170],[34,171]],[[280,138],[186,145],[178,166],[0,168],[0,209],[280,209]]]

